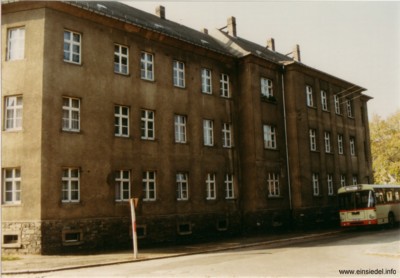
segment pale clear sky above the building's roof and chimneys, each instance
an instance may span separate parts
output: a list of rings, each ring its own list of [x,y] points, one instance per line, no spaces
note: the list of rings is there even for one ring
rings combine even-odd
[[[237,35],[260,45],[275,40],[287,54],[300,45],[302,63],[363,88],[373,115],[400,110],[400,1],[122,1],[190,28],[209,30],[236,18]]]

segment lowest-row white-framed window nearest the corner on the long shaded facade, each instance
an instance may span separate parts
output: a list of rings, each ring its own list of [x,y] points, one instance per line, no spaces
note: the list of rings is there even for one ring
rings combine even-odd
[[[79,169],[65,168],[62,171],[62,192],[63,203],[79,202]]]

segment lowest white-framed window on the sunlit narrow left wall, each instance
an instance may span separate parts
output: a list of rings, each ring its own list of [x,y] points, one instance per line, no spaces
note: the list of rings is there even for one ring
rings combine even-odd
[[[21,169],[19,168],[3,170],[3,203],[21,203]]]

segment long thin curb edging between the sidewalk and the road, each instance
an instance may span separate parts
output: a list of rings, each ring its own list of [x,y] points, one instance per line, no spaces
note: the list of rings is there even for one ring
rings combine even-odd
[[[117,265],[117,264],[126,264],[126,263],[136,263],[136,262],[143,262],[143,261],[151,261],[151,260],[160,260],[166,258],[175,258],[175,257],[183,257],[183,256],[191,256],[197,254],[207,254],[207,253],[214,253],[214,252],[221,252],[221,251],[229,251],[235,249],[242,249],[248,247],[254,247],[259,245],[270,245],[270,244],[277,244],[283,242],[296,242],[301,240],[313,239],[318,237],[330,236],[342,233],[343,230],[337,231],[330,231],[325,233],[319,234],[311,234],[311,235],[302,235],[290,238],[283,238],[283,239],[276,239],[276,240],[264,240],[260,242],[254,243],[247,243],[247,244],[237,244],[234,246],[226,246],[226,247],[214,247],[214,248],[207,248],[205,250],[196,250],[196,251],[186,251],[183,253],[176,253],[170,255],[160,255],[156,257],[149,257],[149,258],[138,258],[138,259],[128,259],[128,260],[118,260],[113,262],[104,262],[104,263],[92,263],[92,264],[81,264],[81,265],[71,265],[71,266],[60,266],[54,268],[44,268],[44,269],[36,269],[36,270],[11,270],[11,271],[2,271],[2,275],[22,275],[22,274],[38,274],[38,273],[46,273],[46,272],[55,272],[55,271],[63,271],[63,270],[73,270],[73,269],[80,269],[80,268],[91,268],[91,267],[98,267],[98,266],[109,266],[109,265]]]

